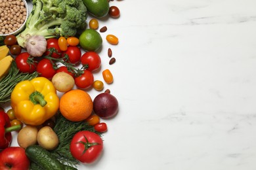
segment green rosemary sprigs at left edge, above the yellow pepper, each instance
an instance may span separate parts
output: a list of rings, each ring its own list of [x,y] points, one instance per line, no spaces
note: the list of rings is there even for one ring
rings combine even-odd
[[[18,82],[32,80],[35,77],[37,77],[36,71],[33,73],[21,73],[15,61],[12,61],[8,75],[0,80],[0,103],[11,101],[12,90]]]

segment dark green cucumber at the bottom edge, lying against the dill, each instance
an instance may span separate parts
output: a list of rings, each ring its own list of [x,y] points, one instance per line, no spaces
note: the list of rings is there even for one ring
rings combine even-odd
[[[32,145],[26,148],[26,155],[44,170],[73,170],[74,167],[64,165],[58,161],[48,150],[39,145]]]

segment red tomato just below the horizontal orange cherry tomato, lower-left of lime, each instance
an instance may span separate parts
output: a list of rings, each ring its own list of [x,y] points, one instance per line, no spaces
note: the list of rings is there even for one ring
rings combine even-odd
[[[77,64],[81,58],[81,50],[78,46],[68,46],[68,50],[63,52],[63,56],[68,54],[68,58],[70,59],[70,63]]]

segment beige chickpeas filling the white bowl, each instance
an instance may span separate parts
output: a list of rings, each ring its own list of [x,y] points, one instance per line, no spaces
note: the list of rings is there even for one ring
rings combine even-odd
[[[26,21],[26,15],[22,0],[0,0],[0,35],[19,29]]]

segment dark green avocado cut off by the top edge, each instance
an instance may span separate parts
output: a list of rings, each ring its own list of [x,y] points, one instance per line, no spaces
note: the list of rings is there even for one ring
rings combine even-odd
[[[108,0],[83,0],[83,4],[93,16],[98,18],[106,16],[110,10]]]

